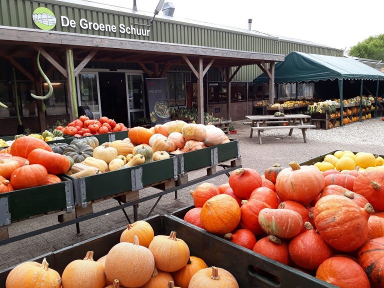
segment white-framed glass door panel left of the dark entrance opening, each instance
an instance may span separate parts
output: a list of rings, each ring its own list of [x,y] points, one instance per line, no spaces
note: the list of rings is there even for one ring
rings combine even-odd
[[[101,117],[100,91],[98,72],[80,72],[77,76],[78,105],[87,105],[93,113],[93,118]]]

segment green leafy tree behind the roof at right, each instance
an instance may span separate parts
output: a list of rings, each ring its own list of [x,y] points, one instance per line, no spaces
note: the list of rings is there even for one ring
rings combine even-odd
[[[384,61],[384,34],[370,36],[350,47],[349,56]]]

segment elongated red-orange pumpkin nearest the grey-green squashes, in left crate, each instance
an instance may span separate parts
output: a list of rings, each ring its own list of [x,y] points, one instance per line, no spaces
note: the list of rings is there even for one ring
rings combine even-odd
[[[51,174],[64,174],[69,169],[69,160],[59,153],[44,149],[34,149],[28,154],[30,164],[40,164]]]

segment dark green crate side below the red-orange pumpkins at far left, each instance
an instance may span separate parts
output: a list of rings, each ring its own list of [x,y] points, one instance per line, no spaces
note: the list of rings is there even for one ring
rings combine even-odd
[[[62,182],[0,194],[0,226],[34,215],[66,209],[72,210],[73,184],[68,178]]]

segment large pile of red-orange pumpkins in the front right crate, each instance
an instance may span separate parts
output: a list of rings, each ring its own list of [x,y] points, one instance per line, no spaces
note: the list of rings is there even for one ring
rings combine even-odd
[[[384,287],[384,170],[327,172],[234,170],[192,190],[184,220],[341,288]]]

